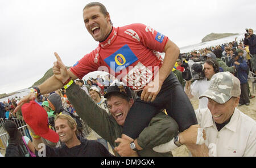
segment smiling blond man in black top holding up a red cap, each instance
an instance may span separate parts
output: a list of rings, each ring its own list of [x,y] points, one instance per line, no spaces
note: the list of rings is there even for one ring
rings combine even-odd
[[[97,141],[86,140],[77,136],[76,121],[67,114],[59,114],[56,116],[56,132],[51,130],[48,126],[46,110],[35,101],[30,101],[30,103],[24,104],[22,106],[22,114],[31,132],[36,156],[113,156]],[[49,147],[48,145],[43,144],[41,136],[53,143],[60,140],[63,145],[57,148]]]

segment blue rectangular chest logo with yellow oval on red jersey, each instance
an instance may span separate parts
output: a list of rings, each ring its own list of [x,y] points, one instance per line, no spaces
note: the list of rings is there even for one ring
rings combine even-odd
[[[130,66],[137,60],[138,58],[133,53],[133,51],[131,51],[127,44],[104,59],[106,64],[108,64],[108,66],[110,66],[110,68],[112,68],[112,70],[114,70],[115,72],[121,71],[123,68]]]

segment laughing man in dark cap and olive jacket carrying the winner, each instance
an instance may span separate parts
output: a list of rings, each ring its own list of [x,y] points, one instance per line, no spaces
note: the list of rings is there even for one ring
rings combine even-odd
[[[134,103],[128,87],[118,87],[117,85],[108,87],[105,97],[108,100],[111,115],[108,115],[104,109],[95,106],[91,98],[85,92],[81,92],[81,89],[74,84],[67,89],[67,96],[80,117],[88,123],[88,126],[114,147],[117,147],[115,149],[121,156],[133,156],[136,155],[136,152],[139,156],[172,156],[171,153],[161,154],[152,150],[152,147],[162,144],[166,140],[171,140],[177,133],[176,122],[164,113],[159,113],[152,118],[148,127],[144,128],[138,138],[134,140],[136,147],[134,150],[138,149],[138,151],[131,150],[130,143],[132,141],[118,139],[121,137],[127,113]],[[84,101],[81,102],[77,97],[82,97]],[[119,140],[122,141],[121,144],[118,144]],[[126,148],[123,148],[123,145]],[[129,154],[125,152],[126,155],[123,153],[124,151]]]

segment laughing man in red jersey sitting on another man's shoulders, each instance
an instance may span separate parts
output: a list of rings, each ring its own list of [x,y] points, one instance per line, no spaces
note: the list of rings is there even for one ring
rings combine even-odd
[[[171,73],[179,56],[179,48],[174,42],[144,24],[113,27],[109,12],[98,2],[86,5],[83,17],[86,29],[99,42],[98,47],[68,70],[68,79],[61,77],[64,70],[59,66],[62,63],[59,55],[55,53],[55,75],[35,88],[36,93],[55,91],[71,80],[82,79],[89,72],[104,70],[141,97],[135,101],[126,118],[123,138],[133,140],[138,137],[159,109],[167,110],[179,124],[180,131],[197,124],[191,102]],[[164,59],[158,52],[165,53]],[[23,98],[19,106],[31,98],[32,94]]]

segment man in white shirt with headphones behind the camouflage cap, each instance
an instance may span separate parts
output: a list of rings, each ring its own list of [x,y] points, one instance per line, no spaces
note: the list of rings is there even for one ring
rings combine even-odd
[[[202,68],[203,69],[201,71],[204,72],[203,79],[196,80],[191,85],[189,84],[191,83],[191,81],[186,82],[187,83],[186,86],[188,86],[188,90],[190,90],[189,92],[186,92],[188,93],[189,98],[195,97],[199,99],[201,94],[203,94],[209,88],[210,79],[212,78],[212,76],[219,72],[218,62],[216,61],[216,59],[212,59],[212,58],[207,59],[204,63],[204,67]],[[189,85],[190,85],[190,89],[189,89]],[[199,99],[199,109],[207,108],[207,104],[208,104],[207,98]]]

